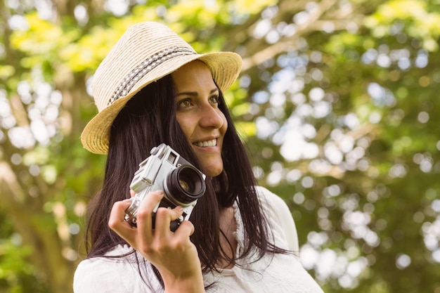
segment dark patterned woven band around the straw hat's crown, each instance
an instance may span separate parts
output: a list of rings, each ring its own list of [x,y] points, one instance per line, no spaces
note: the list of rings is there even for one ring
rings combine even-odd
[[[181,55],[195,55],[195,51],[186,47],[171,47],[163,51],[155,53],[153,56],[148,57],[143,63],[138,65],[134,70],[124,78],[119,84],[116,91],[112,94],[110,100],[108,100],[107,106],[112,105],[115,101],[123,96],[127,96],[127,93],[133,88],[133,86],[141,79],[145,74],[153,70],[157,65],[160,65],[166,60]]]

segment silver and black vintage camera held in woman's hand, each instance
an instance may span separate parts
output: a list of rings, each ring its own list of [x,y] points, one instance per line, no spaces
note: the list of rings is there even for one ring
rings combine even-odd
[[[150,157],[139,164],[130,188],[136,192],[130,206],[125,210],[125,220],[136,226],[136,214],[145,195],[150,191],[163,190],[164,197],[153,209],[153,228],[155,212],[159,207],[173,209],[183,207],[182,216],[172,221],[170,229],[174,232],[182,221],[188,220],[198,198],[205,194],[205,174],[183,159],[175,150],[162,143],[151,149]]]

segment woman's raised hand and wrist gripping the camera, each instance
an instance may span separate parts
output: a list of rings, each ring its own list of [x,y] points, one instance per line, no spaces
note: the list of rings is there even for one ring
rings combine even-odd
[[[145,196],[138,207],[137,227],[124,220],[130,201],[115,202],[108,226],[153,263],[162,275],[165,292],[205,292],[198,252],[190,241],[193,224],[183,221],[176,232],[169,230],[170,223],[179,219],[183,209],[160,207],[156,211],[155,229],[152,228],[153,209],[163,196],[160,190]]]

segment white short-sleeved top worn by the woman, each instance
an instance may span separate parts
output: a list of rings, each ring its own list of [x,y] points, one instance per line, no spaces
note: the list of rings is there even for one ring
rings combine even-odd
[[[265,188],[258,187],[257,192],[261,204],[267,213],[267,219],[273,233],[274,244],[280,248],[290,249],[295,254],[266,254],[257,262],[240,259],[231,269],[223,269],[220,273],[211,272],[204,275],[207,292],[221,293],[323,293],[321,287],[311,278],[299,262],[298,238],[295,223],[287,204]],[[237,230],[235,238],[238,242],[237,255],[243,249],[244,230],[239,209],[235,207]],[[131,247],[118,245],[106,255],[120,255],[131,252]],[[142,256],[138,254],[141,259]],[[151,267],[148,264],[143,279],[150,283],[145,285],[138,272],[136,256],[121,258],[96,257],[79,263],[73,282],[75,293],[127,292],[145,293],[162,292]],[[145,267],[141,264],[145,271]],[[150,288],[149,288],[150,287]]]

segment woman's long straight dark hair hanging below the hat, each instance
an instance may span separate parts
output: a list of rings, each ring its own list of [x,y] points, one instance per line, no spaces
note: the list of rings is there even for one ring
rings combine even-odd
[[[103,256],[116,245],[127,244],[108,227],[108,219],[112,204],[130,197],[129,183],[138,163],[148,157],[151,148],[166,143],[200,169],[200,162],[176,120],[175,94],[173,79],[167,75],[136,93],[113,122],[103,188],[89,204],[88,257]],[[255,253],[261,258],[266,253],[285,252],[273,245],[245,146],[221,93],[219,109],[228,122],[221,153],[224,171],[207,178],[205,195],[200,197],[190,216],[195,226],[190,240],[198,249],[204,273],[216,270],[216,264],[221,261],[237,265],[238,256],[230,258],[221,249],[220,237],[225,235],[219,228],[221,209],[231,207],[234,202],[240,209],[245,230],[245,249],[240,258]]]

